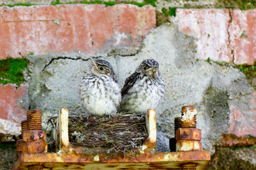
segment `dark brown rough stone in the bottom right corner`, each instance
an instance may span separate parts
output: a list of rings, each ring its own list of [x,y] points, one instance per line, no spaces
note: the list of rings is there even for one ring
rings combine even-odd
[[[210,158],[206,170],[212,169],[256,169],[256,146],[247,148],[218,147]]]

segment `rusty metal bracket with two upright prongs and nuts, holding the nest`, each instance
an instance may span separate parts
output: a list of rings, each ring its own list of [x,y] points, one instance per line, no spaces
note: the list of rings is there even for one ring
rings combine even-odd
[[[37,110],[38,111],[38,110]],[[37,120],[38,121],[38,120]],[[190,120],[189,120],[190,121]],[[189,121],[184,123],[189,125]],[[193,116],[192,116],[192,121]],[[40,130],[24,130],[23,140],[17,142],[20,152],[17,162],[12,167],[16,169],[204,169],[210,161],[210,152],[201,151],[201,130],[189,126],[178,126],[176,130],[177,152],[156,152],[156,111],[149,109],[146,114],[146,130],[149,134],[138,152],[129,154],[100,154],[95,148],[95,154],[89,154],[86,147],[74,147],[68,140],[68,110],[61,109],[55,128],[55,144],[57,153],[48,153],[43,143],[45,132]],[[192,123],[194,125],[194,123]],[[40,126],[36,126],[37,128]],[[29,131],[29,132],[27,132]],[[37,132],[37,133],[36,133]],[[28,138],[31,140],[28,141]],[[20,145],[31,145],[38,142],[39,152],[20,149]],[[195,144],[200,142],[200,147]],[[25,145],[24,145],[25,143]],[[193,145],[189,145],[189,144]],[[189,146],[188,146],[189,145]],[[39,147],[40,148],[40,147]],[[186,152],[184,152],[186,150]]]

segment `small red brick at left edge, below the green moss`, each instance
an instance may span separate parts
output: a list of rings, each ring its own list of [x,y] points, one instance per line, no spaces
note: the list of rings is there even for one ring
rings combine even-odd
[[[0,84],[0,133],[19,135],[21,120],[26,120],[26,109],[21,106],[27,96],[26,86],[18,89],[14,84]]]

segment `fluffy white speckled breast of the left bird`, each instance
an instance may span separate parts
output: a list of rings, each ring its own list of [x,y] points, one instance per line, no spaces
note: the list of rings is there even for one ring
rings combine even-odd
[[[113,114],[121,101],[120,88],[110,77],[95,77],[90,74],[81,81],[80,99],[89,115]]]

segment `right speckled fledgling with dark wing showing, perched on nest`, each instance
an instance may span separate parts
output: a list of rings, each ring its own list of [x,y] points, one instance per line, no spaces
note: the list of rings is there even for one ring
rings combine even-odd
[[[164,80],[159,73],[156,60],[144,60],[130,75],[122,87],[121,110],[146,113],[154,109],[164,98]]]

